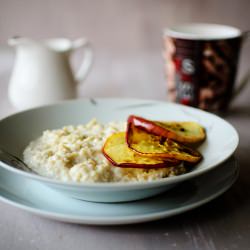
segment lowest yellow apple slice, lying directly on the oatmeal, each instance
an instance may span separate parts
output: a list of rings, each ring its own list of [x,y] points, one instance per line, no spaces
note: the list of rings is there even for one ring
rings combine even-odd
[[[126,143],[125,132],[112,134],[107,138],[102,152],[115,166],[129,168],[165,168],[179,165],[178,160],[150,158],[137,154]]]

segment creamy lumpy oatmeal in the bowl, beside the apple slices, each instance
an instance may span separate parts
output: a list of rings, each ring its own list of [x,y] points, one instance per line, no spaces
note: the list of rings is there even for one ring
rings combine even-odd
[[[46,130],[25,148],[24,162],[42,176],[77,183],[151,181],[185,172],[182,166],[160,169],[113,166],[101,150],[111,134],[125,129],[126,123],[101,124],[93,119],[85,125]]]

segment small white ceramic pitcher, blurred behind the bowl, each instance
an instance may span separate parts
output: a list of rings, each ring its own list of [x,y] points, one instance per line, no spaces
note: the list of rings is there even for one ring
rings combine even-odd
[[[92,49],[85,38],[34,41],[14,37],[8,43],[16,47],[8,94],[17,109],[75,98],[77,83],[86,78],[93,61]],[[79,48],[83,48],[83,62],[75,75],[69,59]]]

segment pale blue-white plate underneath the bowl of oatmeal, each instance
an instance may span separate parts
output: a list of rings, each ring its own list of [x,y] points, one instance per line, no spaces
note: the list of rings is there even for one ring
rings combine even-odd
[[[225,192],[238,176],[234,159],[153,198],[127,203],[95,203],[69,198],[35,180],[0,169],[0,200],[64,222],[93,225],[153,221],[191,210]],[[211,181],[212,180],[212,181]]]

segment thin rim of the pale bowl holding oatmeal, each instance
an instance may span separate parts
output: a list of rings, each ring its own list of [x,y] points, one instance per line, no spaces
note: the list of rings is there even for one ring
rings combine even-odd
[[[21,175],[23,177],[28,177],[30,179],[34,179],[34,180],[38,180],[41,181],[43,183],[48,183],[51,185],[63,185],[63,186],[67,186],[67,187],[82,187],[82,188],[126,188],[126,189],[140,189],[143,187],[155,187],[155,186],[162,186],[162,185],[170,185],[170,184],[175,184],[177,182],[182,182],[194,177],[197,177],[199,175],[205,174],[208,171],[211,171],[212,169],[218,167],[219,165],[221,165],[222,163],[224,163],[225,161],[227,161],[235,152],[235,150],[237,149],[238,145],[239,145],[239,134],[237,132],[237,130],[226,120],[222,119],[221,117],[204,111],[204,110],[200,110],[194,107],[189,107],[189,106],[184,106],[181,104],[177,104],[177,103],[172,103],[172,102],[167,102],[167,101],[162,101],[162,100],[153,100],[153,99],[140,99],[140,98],[124,98],[124,97],[95,97],[95,98],[81,98],[81,99],[75,99],[75,100],[66,100],[66,101],[61,101],[61,102],[57,102],[55,104],[49,104],[49,105],[43,105],[43,106],[39,106],[39,107],[35,107],[35,108],[31,108],[31,109],[26,109],[23,110],[21,112],[16,112],[13,113],[7,117],[4,117],[2,119],[0,119],[0,123],[3,121],[6,121],[16,115],[21,115],[22,113],[26,113],[26,112],[34,112],[36,110],[40,110],[40,109],[45,109],[45,108],[52,108],[55,106],[61,106],[61,105],[67,105],[67,104],[71,104],[71,103],[82,103],[82,102],[93,102],[93,100],[97,100],[97,101],[119,101],[119,100],[126,100],[126,101],[136,101],[136,102],[152,102],[154,104],[165,104],[165,105],[172,105],[172,106],[177,106],[177,107],[181,107],[187,110],[193,110],[195,112],[200,112],[206,115],[210,115],[215,117],[216,119],[221,120],[222,122],[226,123],[231,129],[232,131],[235,133],[235,144],[234,147],[231,150],[231,153],[228,154],[226,157],[224,157],[222,160],[218,161],[216,164],[210,164],[208,166],[206,166],[206,168],[202,168],[202,169],[195,169],[193,171],[187,172],[185,174],[182,175],[178,175],[178,176],[169,176],[166,178],[161,178],[161,179],[157,179],[157,180],[152,180],[152,181],[137,181],[137,182],[85,182],[85,183],[76,183],[73,181],[61,181],[61,180],[55,180],[49,177],[45,177],[45,176],[41,176],[41,175],[36,175],[36,174],[32,174],[32,173],[28,173],[25,172],[24,170],[19,170],[16,169],[14,167],[12,167],[9,164],[6,164],[4,162],[0,161],[0,167],[3,167],[15,174]],[[132,104],[131,104],[132,105]]]

